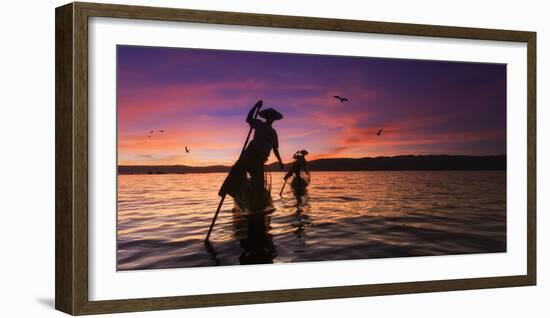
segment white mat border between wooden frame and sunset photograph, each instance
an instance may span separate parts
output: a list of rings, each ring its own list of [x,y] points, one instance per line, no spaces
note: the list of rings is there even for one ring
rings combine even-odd
[[[507,252],[117,272],[115,71],[120,44],[506,63],[507,191],[513,194],[507,196]],[[89,300],[525,275],[526,56],[524,43],[90,18]]]

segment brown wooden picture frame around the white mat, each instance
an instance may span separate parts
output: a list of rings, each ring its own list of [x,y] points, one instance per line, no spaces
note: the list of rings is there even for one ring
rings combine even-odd
[[[450,26],[70,3],[56,9],[55,307],[72,314],[164,310],[536,284],[536,33]],[[527,43],[527,274],[343,287],[90,301],[88,297],[88,19],[112,17]]]

